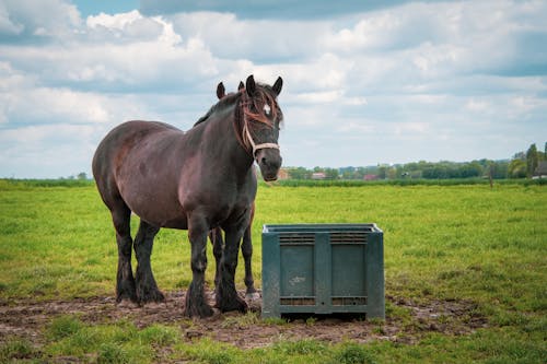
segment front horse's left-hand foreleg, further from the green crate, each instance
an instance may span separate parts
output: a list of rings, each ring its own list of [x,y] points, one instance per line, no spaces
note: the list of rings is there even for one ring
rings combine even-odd
[[[213,314],[205,298],[205,271],[207,269],[207,233],[209,226],[202,220],[190,221],[188,237],[191,245],[191,283],[186,292],[185,315],[209,317]]]

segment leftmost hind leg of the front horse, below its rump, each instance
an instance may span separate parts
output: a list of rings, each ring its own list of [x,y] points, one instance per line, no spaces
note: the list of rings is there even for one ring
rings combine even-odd
[[[116,230],[116,243],[118,245],[118,272],[116,275],[116,302],[131,300],[137,302],[135,279],[131,269],[131,211],[120,201],[110,208],[114,228]]]

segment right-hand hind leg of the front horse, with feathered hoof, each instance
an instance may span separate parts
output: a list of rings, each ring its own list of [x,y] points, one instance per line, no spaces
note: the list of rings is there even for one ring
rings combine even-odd
[[[137,256],[137,298],[139,303],[163,302],[165,297],[158,289],[152,267],[150,265],[150,255],[155,234],[160,227],[153,226],[146,221],[140,221],[139,231],[135,237],[135,254]]]

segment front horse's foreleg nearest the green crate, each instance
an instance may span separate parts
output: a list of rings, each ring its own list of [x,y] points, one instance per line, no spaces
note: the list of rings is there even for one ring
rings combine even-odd
[[[237,268],[237,254],[243,228],[225,230],[224,254],[222,255],[220,283],[217,287],[217,307],[222,312],[246,312],[247,304],[237,295],[235,290],[235,269]]]

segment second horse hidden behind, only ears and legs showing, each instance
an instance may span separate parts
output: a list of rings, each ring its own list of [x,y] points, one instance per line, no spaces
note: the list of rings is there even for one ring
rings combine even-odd
[[[240,81],[237,91],[241,92],[243,89],[245,89],[245,85],[243,84],[243,82]],[[226,96],[226,90],[224,87],[224,84],[220,82],[217,85],[217,97],[219,97],[219,99],[222,99],[225,96]],[[200,121],[198,121],[197,124],[199,124]],[[243,234],[243,242],[241,244],[241,253],[243,255],[243,261],[245,263],[245,279],[244,279],[246,286],[245,295],[247,298],[251,300],[259,297],[258,292],[255,289],[255,280],[253,279],[253,267],[252,267],[253,262],[252,225],[254,215],[255,215],[255,202],[253,201],[253,204],[251,206],[251,222],[247,228],[245,228],[245,233]],[[224,249],[224,239],[222,238],[222,230],[220,227],[213,228],[211,232],[209,232],[209,238],[212,244],[212,251],[216,260],[214,285],[218,286],[220,282],[220,267],[221,267],[220,262],[222,259],[222,251]]]

